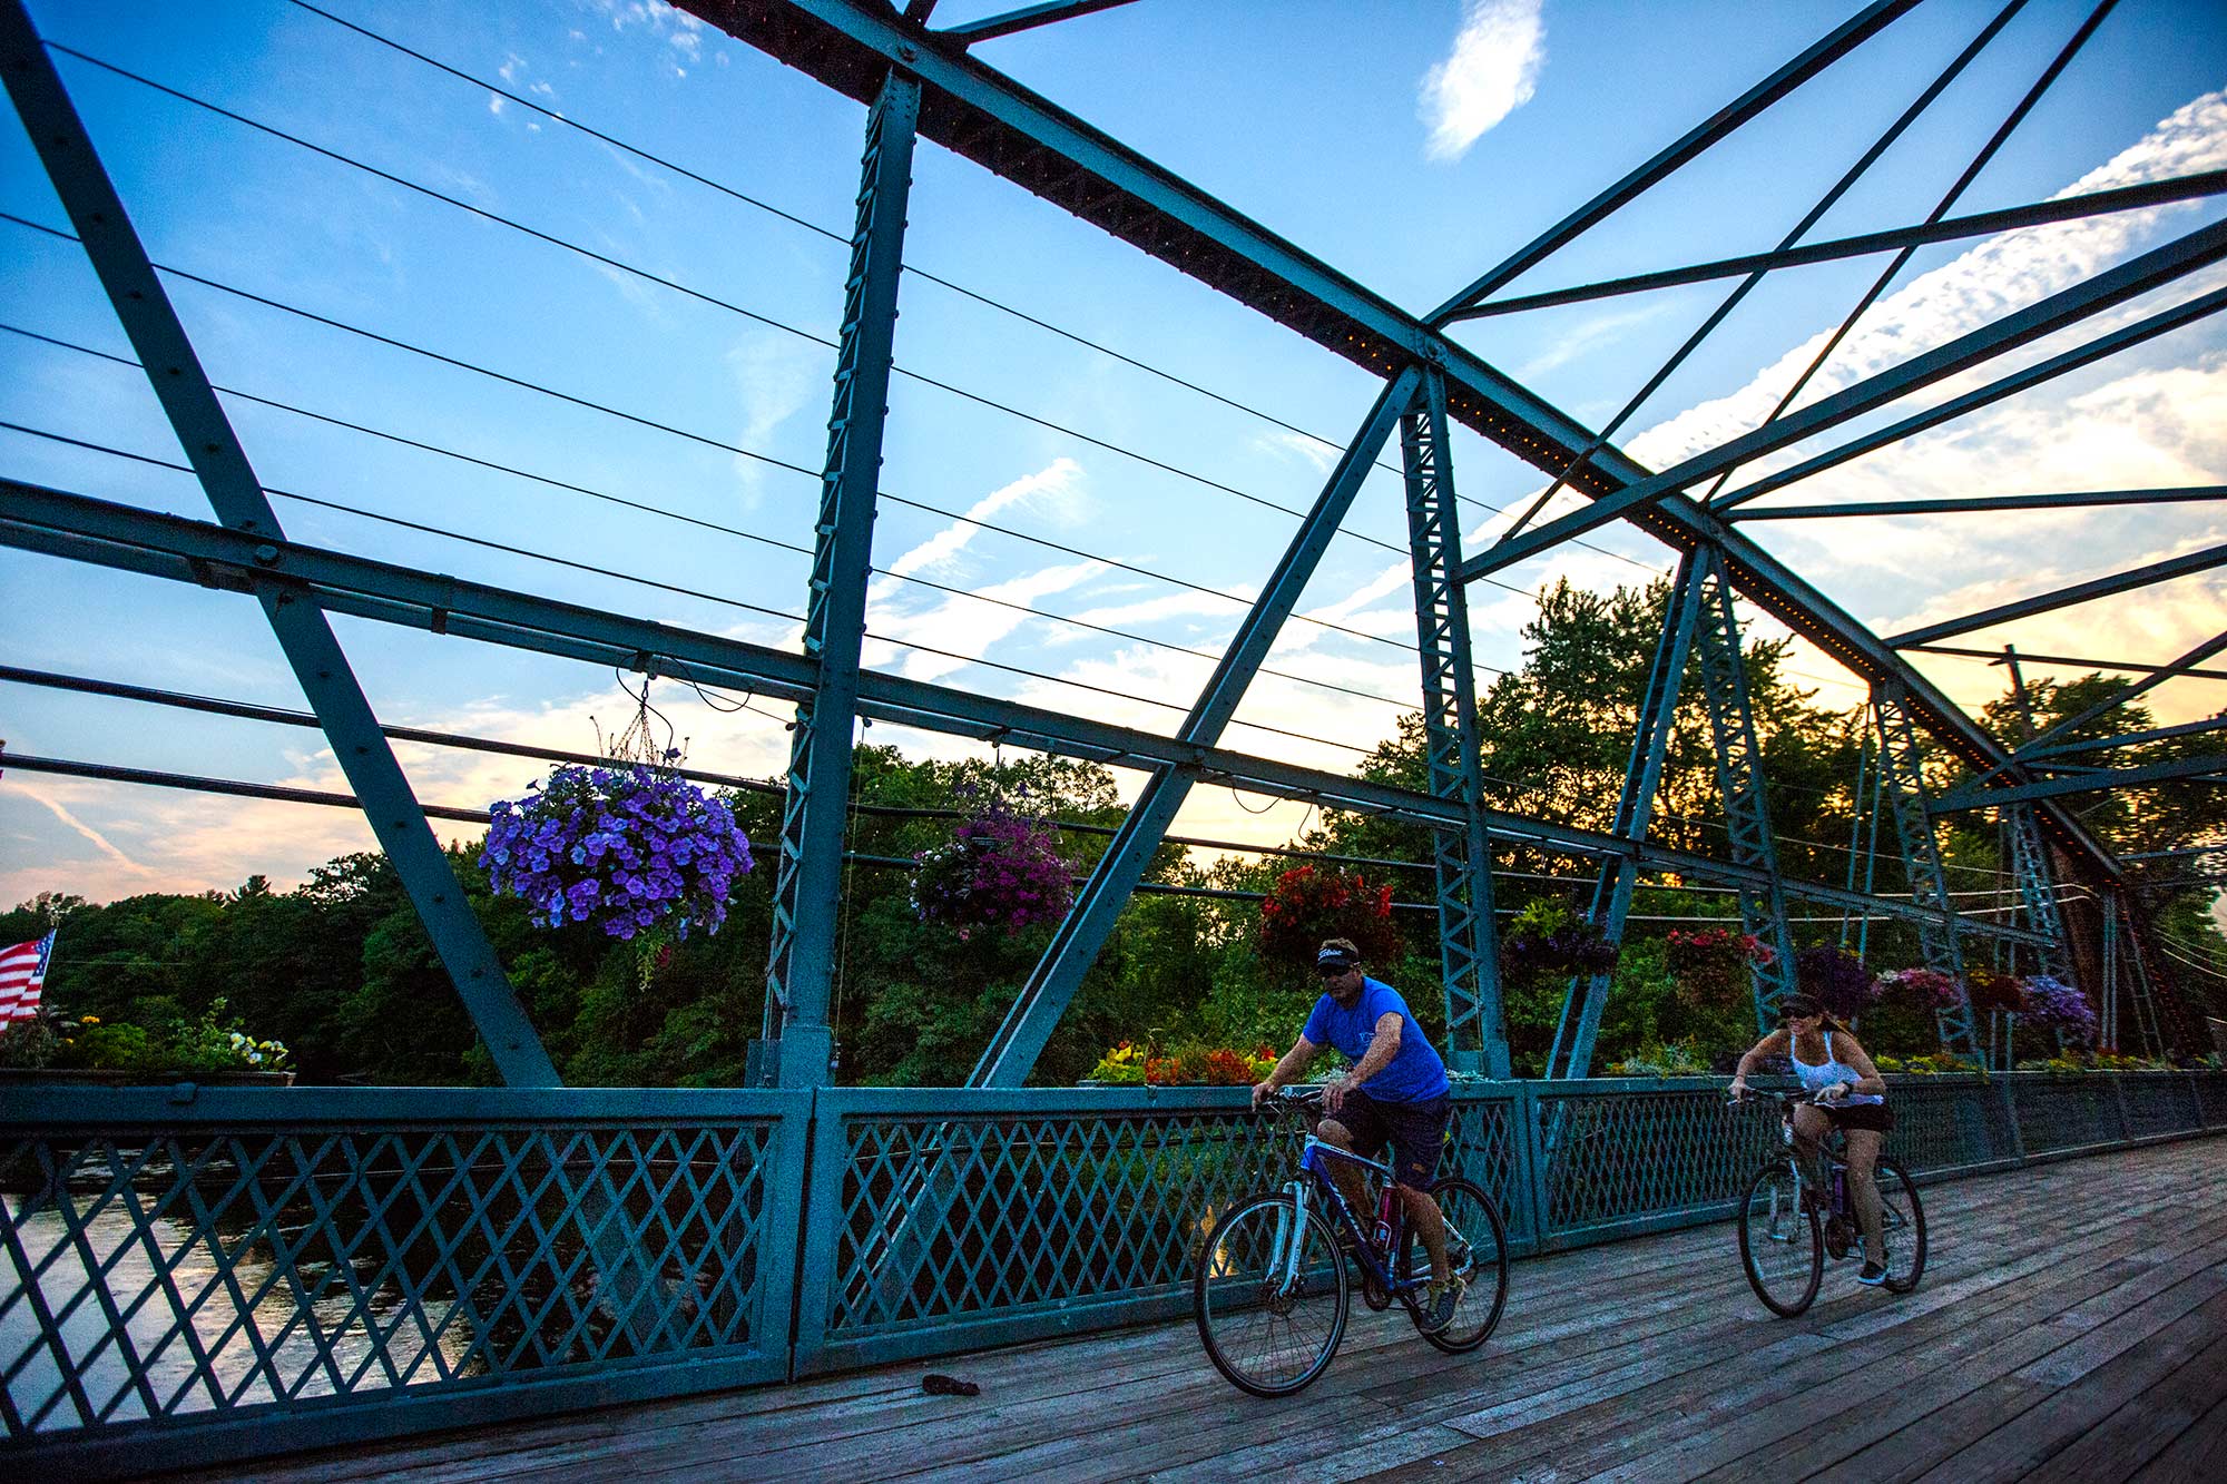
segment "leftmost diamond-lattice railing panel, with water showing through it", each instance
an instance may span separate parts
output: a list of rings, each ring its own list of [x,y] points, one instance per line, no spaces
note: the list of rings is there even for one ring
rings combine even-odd
[[[746,1346],[768,1145],[748,1121],[9,1136],[9,1435]]]

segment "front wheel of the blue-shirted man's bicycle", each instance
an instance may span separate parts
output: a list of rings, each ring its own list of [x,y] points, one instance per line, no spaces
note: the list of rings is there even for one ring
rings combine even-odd
[[[1256,1397],[1289,1397],[1323,1375],[1350,1304],[1330,1217],[1283,1192],[1258,1194],[1216,1221],[1191,1283],[1207,1359]]]

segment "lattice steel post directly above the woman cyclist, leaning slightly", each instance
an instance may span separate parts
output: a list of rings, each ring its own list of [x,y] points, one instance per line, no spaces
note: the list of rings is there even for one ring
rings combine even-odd
[[[1755,1023],[1768,1027],[1777,1018],[1779,1000],[1795,992],[1795,945],[1786,931],[1786,894],[1779,887],[1777,840],[1770,836],[1770,807],[1764,795],[1764,744],[1755,735],[1748,666],[1739,653],[1739,617],[1733,613],[1733,579],[1717,546],[1706,546],[1701,553],[1699,588],[1701,624],[1695,631],[1695,648],[1701,653],[1701,691],[1717,740],[1724,824],[1733,862],[1759,867],[1768,882],[1739,887],[1742,927],[1768,943],[1775,954],[1770,963],[1748,965]]]

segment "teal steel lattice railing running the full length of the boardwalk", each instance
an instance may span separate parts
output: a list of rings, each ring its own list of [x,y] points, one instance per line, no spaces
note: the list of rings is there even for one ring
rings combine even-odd
[[[1937,1181],[2227,1132],[2227,1074],[1893,1105],[1888,1154]],[[1717,1078],[1459,1083],[1443,1168],[1537,1252],[1721,1219],[1773,1136]],[[11,1087],[0,1462],[138,1473],[1174,1317],[1214,1217],[1292,1159],[1207,1087]]]

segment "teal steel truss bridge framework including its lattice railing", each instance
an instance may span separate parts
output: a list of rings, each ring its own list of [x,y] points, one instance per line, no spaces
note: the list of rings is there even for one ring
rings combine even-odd
[[[1639,399],[1773,270],[1888,254],[1877,285],[1842,325],[1846,334],[1909,254],[1926,243],[2227,189],[2227,172],[2205,172],[2029,207],[1955,212],[1964,185],[2073,65],[2111,11],[2109,0],[2067,40],[1922,223],[1804,241],[2022,0],[1989,20],[1775,250],[1570,290],[1510,292],[1519,276],[1866,45],[1917,0],[1864,4],[1428,314],[1396,307],[973,53],[982,40],[1078,22],[1114,2],[1120,0],[1053,0],[938,29],[933,0],[911,0],[902,11],[880,0],[684,0],[681,9],[869,107],[806,633],[802,651],[784,651],[292,541],[49,47],[22,0],[0,0],[0,74],[9,98],[67,209],[69,234],[107,290],[214,515],[180,519],[102,499],[98,490],[0,481],[0,541],[238,593],[263,608],[312,711],[312,717],[265,720],[314,720],[323,729],[352,802],[392,858],[506,1083],[488,1094],[196,1094],[180,1087],[171,1101],[136,1092],[53,1092],[38,1105],[9,1094],[0,1185],[11,1201],[22,1192],[22,1201],[7,1228],[16,1286],[0,1299],[0,1335],[16,1335],[20,1326],[36,1332],[29,1344],[9,1341],[0,1353],[11,1453],[69,1457],[87,1468],[238,1457],[312,1437],[492,1419],[521,1406],[521,1397],[532,1397],[523,1402],[530,1406],[575,1406],[670,1395],[1160,1312],[1169,1306],[1169,1283],[1180,1281],[1185,1246],[1180,1212],[1158,1201],[1191,1201],[1183,1210],[1200,1201],[1211,1205],[1216,1181],[1245,1177],[1254,1156],[1243,1121],[1216,1094],[1093,1103],[1022,1083],[1198,784],[1367,811],[1430,831],[1450,1061],[1490,1078],[1510,1074],[1492,851],[1512,842],[1586,862],[1597,873],[1592,916],[1610,938],[1621,938],[1644,876],[1735,891],[1746,929],[1777,947],[1775,963],[1755,969],[1755,1009],[1764,1021],[1793,987],[1788,911],[1806,902],[1904,920],[1917,929],[1926,960],[1949,972],[1962,967],[1966,951],[2013,945],[2022,963],[2080,983],[2100,1005],[2113,1043],[2122,1005],[2131,1012],[2129,1043],[2162,1049],[2194,1041],[2171,996],[2151,992],[2154,974],[2131,931],[2122,862],[2082,829],[2073,800],[2165,778],[2218,782],[2227,775],[2227,755],[2165,769],[2084,767],[2080,760],[2098,751],[2149,735],[2078,746],[2058,740],[2073,722],[2091,717],[2073,717],[2007,749],[1942,695],[1911,655],[1958,653],[1944,642],[1969,631],[2220,566],[2227,548],[1877,635],[1753,541],[1744,524],[1860,515],[1855,506],[1750,501],[2194,323],[2227,303],[2227,290],[2196,294],[1982,379],[1973,390],[1791,468],[1746,481],[1739,470],[1897,408],[1951,377],[1986,377],[1991,365],[2042,336],[2198,274],[2227,258],[2227,223],[2187,232],[1793,408],[1797,385],[1759,428],[1672,468],[1646,468],[1615,443]],[[1383,383],[1171,735],[862,664],[904,223],[920,140],[967,156],[1180,267]],[[1470,319],[1670,283],[1730,287],[1708,323],[1606,428],[1574,421],[1452,339],[1452,328]],[[1548,475],[1550,492],[1570,490],[1586,504],[1534,524],[1546,506],[1541,497],[1490,544],[1465,550],[1450,452],[1456,423]],[[1232,715],[1365,472],[1394,441],[1407,497],[1428,791],[1296,767],[1225,742]],[[2223,488],[2062,492],[1880,508],[2133,508],[2223,495]],[[1608,521],[1652,535],[1677,553],[1679,566],[1615,822],[1590,831],[1483,802],[1465,590]],[[1768,613],[1868,684],[1868,787],[1880,798],[1880,818],[1893,824],[1909,896],[1802,880],[1779,869],[1742,660],[1739,602]],[[390,738],[408,733],[374,715],[330,615],[742,686],[795,704],[766,1023],[753,1045],[746,1090],[561,1087],[434,840],[428,820],[443,811],[414,798],[394,760]],[[2227,633],[2165,664],[2122,666],[2142,677],[2111,704],[2203,673],[2196,666],[2220,648],[2227,648]],[[1666,849],[1650,836],[1670,717],[1688,673],[1699,677],[1715,742],[1730,838],[1726,856]],[[27,671],[7,677],[131,693],[129,686]],[[826,1085],[860,717],[1142,773],[1134,807],[960,1092],[869,1094]],[[2194,735],[2223,724],[2171,731]],[[1931,793],[1920,767],[1929,744],[1969,767],[1975,782]],[[71,760],[9,755],[9,767],[254,791]],[[1937,829],[1960,811],[1993,811],[2013,842],[2018,911],[2009,920],[1955,909]],[[1721,1159],[1708,1152],[1715,1125],[1697,1112],[1695,1090],[1583,1081],[1606,998],[1606,974],[1570,987],[1550,1081],[1494,1081],[1490,1092],[1465,1094],[1461,1159],[1505,1197],[1517,1239],[1528,1250],[1706,1219],[1728,1199],[1717,1188]],[[1969,1005],[1944,1012],[1942,1036],[1953,1049],[1973,1049]],[[2042,1130],[2035,1136],[2062,1150],[2176,1136],[2227,1121],[2220,1090],[2205,1078],[2100,1078],[2078,1094],[2042,1085],[2013,1090],[2009,1081],[1942,1083],[1924,1105],[1931,1112],[1913,1119],[1906,1139],[1931,1141],[1911,1163],[1933,1170],[2020,1163],[2033,1152],[2027,1130]],[[2035,1110],[2047,1110],[2042,1125],[2033,1123],[2042,1116]],[[1203,1152],[1216,1170],[1211,1179],[1198,1177],[1207,1185],[1162,1190],[1156,1183],[1154,1170],[1171,1159],[1207,1156]],[[1617,1190],[1615,1170],[1632,1168],[1632,1156],[1659,1159],[1672,1172],[1670,1188]],[[1198,1165],[1185,1168],[1196,1174]],[[1036,1192],[1044,1210],[1024,1210],[1029,1199],[1013,1190]],[[1091,1197],[1082,1201],[1076,1192]],[[1111,1237],[1091,1226],[1105,1203],[1122,1212],[1116,1226],[1127,1223]],[[47,1246],[29,1237],[27,1221],[36,1212],[53,1214],[62,1237]],[[165,1246],[163,1221],[183,1223],[189,1239]],[[1016,1243],[1051,1243],[1082,1257],[1016,1263],[1009,1261]],[[1111,1257],[1114,1248],[1125,1257]],[[58,1286],[60,1275],[73,1279]],[[227,1295],[225,1306],[207,1310],[227,1315],[214,1330],[196,1317],[212,1292]],[[281,1315],[276,1328],[272,1312]],[[334,1312],[341,1319],[334,1321]],[[98,1330],[105,1339],[87,1350],[80,1330]],[[307,1361],[287,1359],[296,1355],[287,1341],[307,1344],[301,1350]],[[254,1353],[247,1382],[220,1382],[220,1353],[243,1346]]]

